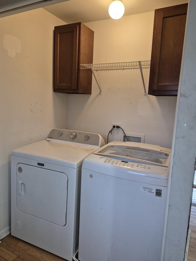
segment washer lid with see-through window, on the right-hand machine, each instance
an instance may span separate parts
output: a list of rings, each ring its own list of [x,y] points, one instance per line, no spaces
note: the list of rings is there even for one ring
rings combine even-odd
[[[171,150],[157,145],[137,142],[110,142],[94,154],[168,167]]]

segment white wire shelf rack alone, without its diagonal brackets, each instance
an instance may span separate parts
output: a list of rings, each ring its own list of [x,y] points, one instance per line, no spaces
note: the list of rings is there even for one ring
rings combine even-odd
[[[93,69],[101,70],[123,70],[123,69],[137,69],[149,68],[150,61],[136,61],[136,62],[114,62],[114,63],[94,63],[94,64],[81,64],[80,69]]]

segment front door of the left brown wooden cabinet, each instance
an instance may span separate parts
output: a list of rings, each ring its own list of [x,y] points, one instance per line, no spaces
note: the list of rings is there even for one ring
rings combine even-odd
[[[77,89],[78,26],[55,29],[54,89]]]

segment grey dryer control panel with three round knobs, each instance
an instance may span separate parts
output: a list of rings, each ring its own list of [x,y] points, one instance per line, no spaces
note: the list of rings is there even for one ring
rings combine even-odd
[[[62,142],[100,146],[101,136],[96,133],[81,132],[74,130],[52,129],[47,136],[47,140],[57,140]]]

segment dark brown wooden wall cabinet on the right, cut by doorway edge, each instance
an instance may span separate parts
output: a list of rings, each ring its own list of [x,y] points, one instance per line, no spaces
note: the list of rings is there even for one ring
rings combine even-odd
[[[148,94],[176,96],[188,4],[155,10]]]

